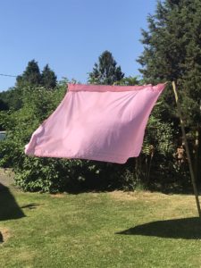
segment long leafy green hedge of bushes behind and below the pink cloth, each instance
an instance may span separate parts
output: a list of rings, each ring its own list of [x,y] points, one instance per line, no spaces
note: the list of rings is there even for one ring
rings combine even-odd
[[[173,158],[176,150],[173,125],[163,122],[157,113],[149,119],[141,154],[123,165],[25,155],[24,146],[32,132],[53,113],[65,92],[65,84],[55,90],[21,88],[21,109],[0,112],[0,125],[6,130],[6,138],[0,141],[0,165],[13,168],[20,188],[42,192],[133,190],[180,179],[180,166]],[[186,168],[182,167],[182,175],[185,174]]]

